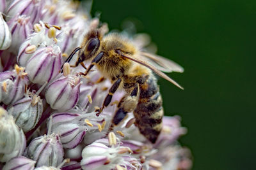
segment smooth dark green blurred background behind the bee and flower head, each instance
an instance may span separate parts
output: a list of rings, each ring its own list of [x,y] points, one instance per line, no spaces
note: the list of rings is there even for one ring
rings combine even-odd
[[[256,169],[256,1],[94,1],[110,29],[136,20],[158,54],[185,68],[159,80],[165,113],[180,115],[193,169]]]

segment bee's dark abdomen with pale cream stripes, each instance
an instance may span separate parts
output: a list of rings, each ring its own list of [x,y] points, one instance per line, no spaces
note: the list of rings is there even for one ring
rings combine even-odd
[[[140,98],[134,110],[134,117],[141,134],[152,143],[156,142],[163,127],[163,115],[162,97],[156,78],[151,74],[140,86]]]

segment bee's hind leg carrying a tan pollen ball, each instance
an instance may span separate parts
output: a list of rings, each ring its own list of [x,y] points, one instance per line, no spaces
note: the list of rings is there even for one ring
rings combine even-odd
[[[115,125],[118,125],[124,118],[126,117],[127,113],[134,111],[139,98],[140,87],[138,83],[136,83],[134,89],[132,90],[129,96],[124,96],[120,103],[118,104],[118,110],[115,113],[115,116],[112,119],[112,124],[109,127],[108,132],[113,130]]]

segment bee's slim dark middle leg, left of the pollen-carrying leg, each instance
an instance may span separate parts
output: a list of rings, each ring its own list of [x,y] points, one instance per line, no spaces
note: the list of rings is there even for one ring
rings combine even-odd
[[[102,105],[102,107],[99,110],[96,110],[98,113],[96,114],[97,117],[99,117],[100,113],[102,112],[102,110],[107,107],[109,105],[109,103],[111,102],[112,96],[113,94],[116,92],[116,90],[118,89],[120,83],[121,83],[122,79],[118,78],[115,83],[113,83],[113,85],[111,86],[111,88],[108,91],[108,95],[106,96],[106,98],[104,99],[104,103]]]

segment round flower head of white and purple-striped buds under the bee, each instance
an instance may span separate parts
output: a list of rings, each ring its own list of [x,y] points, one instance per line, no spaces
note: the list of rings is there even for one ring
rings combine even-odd
[[[180,117],[164,117],[152,144],[133,113],[111,127],[123,90],[96,116],[111,81],[64,63],[90,29],[108,32],[89,13],[68,0],[0,0],[0,169],[190,169]]]

